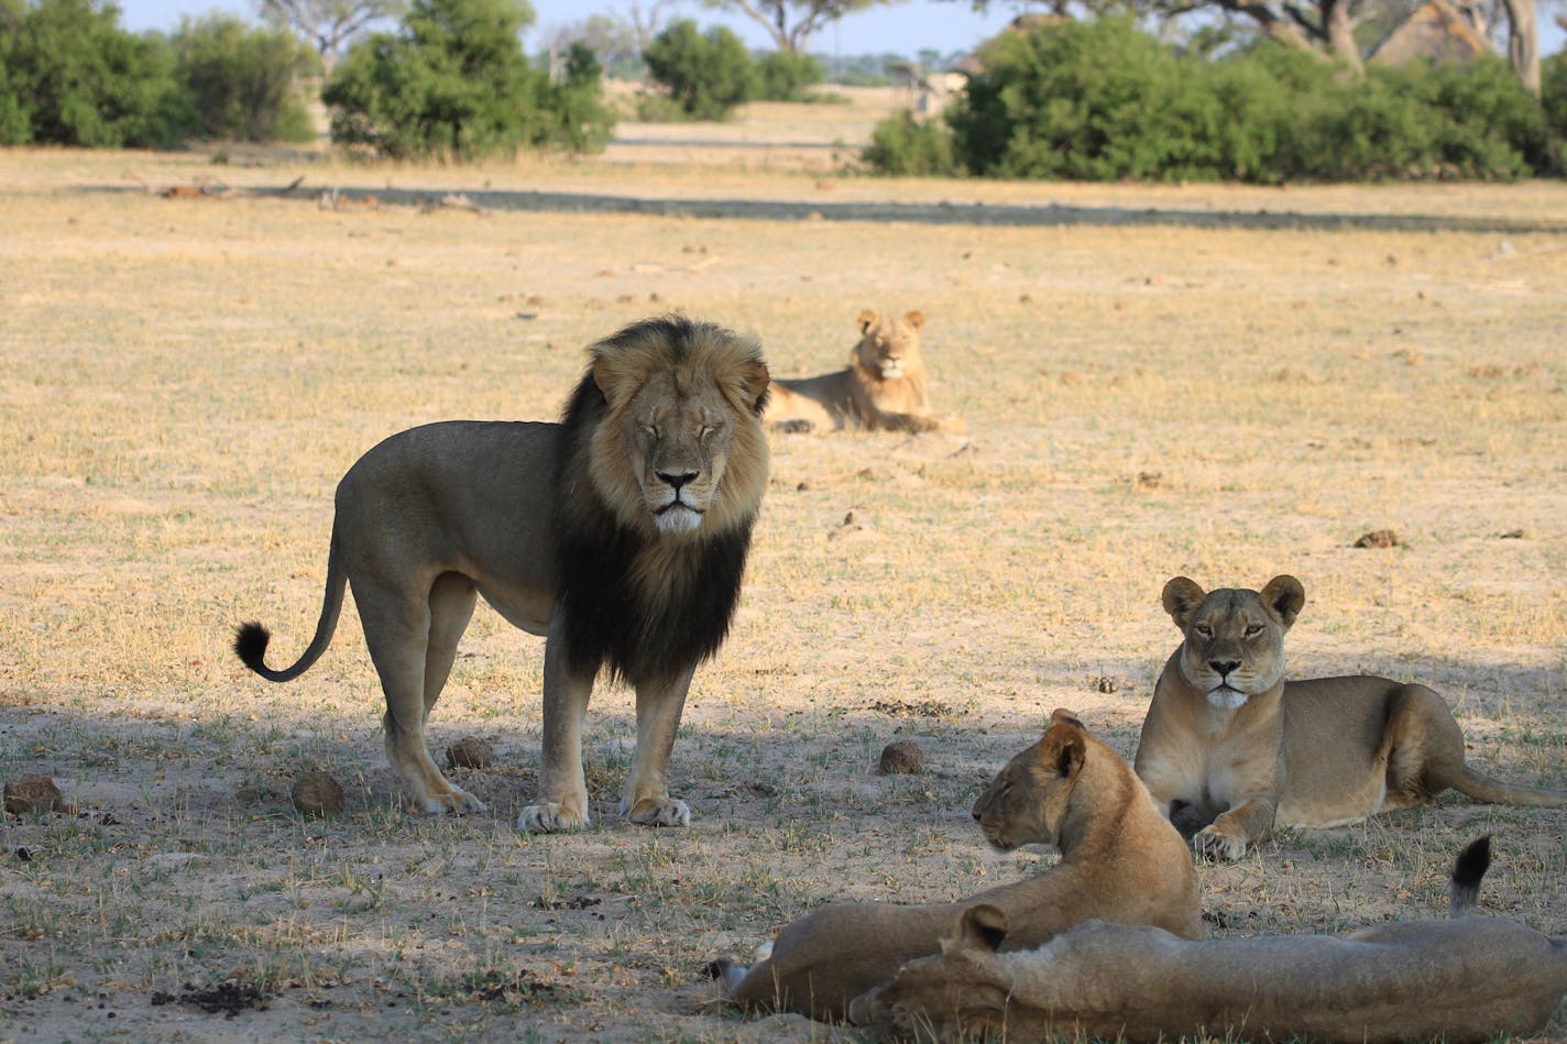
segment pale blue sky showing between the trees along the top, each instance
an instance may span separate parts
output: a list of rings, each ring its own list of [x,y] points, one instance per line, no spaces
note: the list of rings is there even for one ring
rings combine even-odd
[[[180,25],[180,17],[186,14],[205,14],[208,11],[230,11],[246,17],[255,17],[255,5],[251,0],[118,0],[121,8],[121,25],[139,33],[141,30],[174,31]],[[537,20],[533,30],[523,38],[525,45],[536,47],[542,39],[541,30],[570,22],[581,22],[591,14],[627,16],[627,3],[614,0],[531,0]],[[646,9],[646,3],[642,5]],[[1028,5],[990,3],[986,14],[975,14],[968,0],[907,0],[904,3],[885,3],[860,14],[840,19],[837,25],[829,25],[810,44],[810,50],[820,53],[862,55],[893,52],[914,56],[923,47],[934,47],[945,53],[954,50],[970,50],[975,44],[995,36],[1003,25]],[[675,17],[689,17],[697,25],[713,24],[729,25],[752,47],[768,45],[768,36],[751,19],[740,14],[726,14],[704,8],[699,3],[671,5]],[[1034,5],[1044,9],[1044,5]]]

